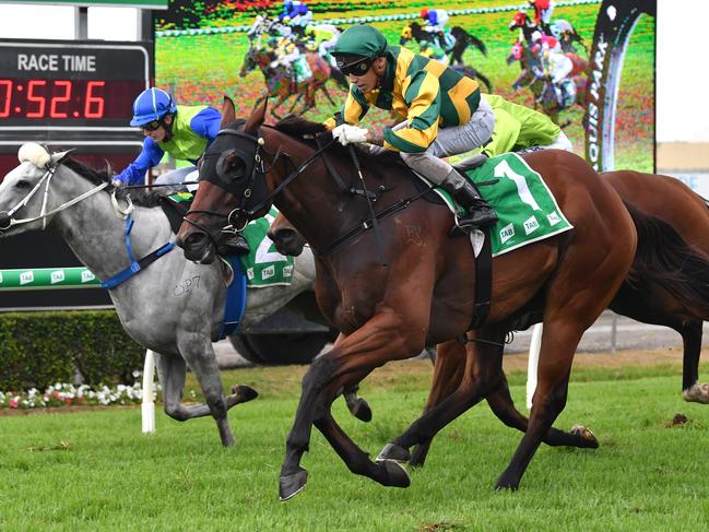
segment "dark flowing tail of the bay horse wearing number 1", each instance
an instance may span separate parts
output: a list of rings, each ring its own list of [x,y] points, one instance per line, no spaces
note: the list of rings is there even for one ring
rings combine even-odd
[[[692,312],[709,319],[709,260],[692,249],[669,223],[625,202],[638,232],[630,285],[664,288]]]

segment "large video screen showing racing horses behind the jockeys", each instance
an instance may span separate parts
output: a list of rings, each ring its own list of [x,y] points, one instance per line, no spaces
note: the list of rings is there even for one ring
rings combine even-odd
[[[547,4],[551,11],[544,9]],[[421,0],[170,0],[167,11],[155,12],[156,84],[188,105],[218,108],[222,95],[228,94],[239,116],[248,115],[257,98],[268,92],[273,120],[291,113],[326,119],[340,108],[346,94],[346,80],[334,69],[328,50],[338,32],[368,23],[390,45],[403,43],[476,78],[484,92],[548,114],[583,155],[589,131],[584,96],[593,81],[589,75],[594,75],[587,64],[593,67],[594,58],[589,56],[596,19],[624,23],[614,19],[612,10],[613,5],[600,0],[448,0],[435,4]],[[432,11],[437,16],[432,17]],[[655,21],[642,14],[633,24],[626,42],[601,43],[600,48],[614,55],[625,51],[614,98],[612,158],[618,169],[653,172]],[[392,117],[373,109],[365,120],[391,123]]]

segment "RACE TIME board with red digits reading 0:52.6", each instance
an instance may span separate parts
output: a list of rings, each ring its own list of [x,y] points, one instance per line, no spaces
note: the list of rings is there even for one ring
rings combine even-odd
[[[140,43],[0,40],[0,132],[129,128],[150,64]]]

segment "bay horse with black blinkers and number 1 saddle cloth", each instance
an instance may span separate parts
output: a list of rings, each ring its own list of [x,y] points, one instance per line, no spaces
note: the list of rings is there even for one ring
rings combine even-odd
[[[409,475],[400,464],[410,458],[407,448],[505,386],[499,379],[501,356],[478,356],[480,364],[469,357],[458,389],[388,445],[376,462],[332,417],[331,403],[339,391],[389,360],[407,358],[427,344],[451,344],[466,333],[487,351],[493,346],[487,342],[498,343],[520,316],[535,311],[543,312],[545,329],[534,406],[527,433],[497,481],[498,488],[516,488],[566,404],[581,334],[611,302],[633,263],[637,233],[617,193],[574,154],[548,150],[525,156],[544,176],[574,230],[495,258],[492,308],[485,323],[471,331],[473,250],[468,239],[449,236],[453,216],[447,208],[420,199],[423,193],[398,164],[399,157],[359,155],[378,192],[379,230],[373,232],[367,201],[371,192],[363,180],[347,186],[342,177],[352,175],[348,152],[322,134],[321,125],[296,119],[268,127],[264,116],[265,105],[246,123],[228,122],[234,109],[225,108],[226,127],[205,154],[193,211],[177,243],[187,258],[209,262],[224,218],[238,227],[263,215],[273,201],[318,256],[318,305],[342,335],[303,379],[281,469],[281,498],[305,487],[300,459],[312,425],[352,472],[382,485],[407,486]],[[329,146],[327,159],[319,155],[324,149],[306,138],[315,134]],[[386,258],[373,252],[378,240]],[[470,344],[466,350],[472,353]],[[447,407],[450,404],[454,407]]]

